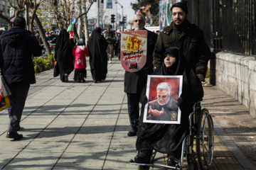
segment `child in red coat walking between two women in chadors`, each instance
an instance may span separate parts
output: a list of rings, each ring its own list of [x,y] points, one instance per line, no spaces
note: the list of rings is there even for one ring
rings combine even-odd
[[[75,57],[74,80],[76,82],[85,82],[87,77],[85,57],[89,56],[87,47],[85,47],[85,39],[79,38],[78,45],[73,50],[73,56]]]

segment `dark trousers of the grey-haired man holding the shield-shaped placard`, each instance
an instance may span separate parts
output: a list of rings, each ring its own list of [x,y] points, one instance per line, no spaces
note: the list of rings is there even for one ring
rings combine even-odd
[[[127,101],[128,101],[128,113],[129,120],[132,128],[134,127],[134,123],[139,120],[139,97],[140,94],[128,94],[127,93]]]

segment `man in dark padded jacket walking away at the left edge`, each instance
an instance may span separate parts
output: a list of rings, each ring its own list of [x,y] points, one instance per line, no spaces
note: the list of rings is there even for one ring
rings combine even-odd
[[[36,83],[32,55],[40,56],[42,53],[36,37],[25,30],[25,26],[25,19],[18,16],[14,19],[14,27],[0,37],[1,75],[11,90],[12,102],[8,109],[10,121],[6,137],[14,140],[23,137],[17,131],[20,129],[28,89],[30,84]]]

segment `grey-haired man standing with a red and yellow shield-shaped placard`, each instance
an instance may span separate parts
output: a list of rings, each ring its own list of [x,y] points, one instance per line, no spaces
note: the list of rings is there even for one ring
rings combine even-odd
[[[122,32],[121,63],[126,69],[124,92],[127,93],[128,113],[132,130],[128,136],[137,135],[136,123],[139,119],[139,98],[146,85],[148,74],[153,72],[153,50],[157,35],[144,28],[145,17],[136,14],[133,20],[134,31]]]

